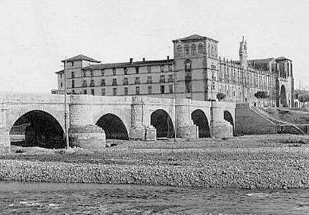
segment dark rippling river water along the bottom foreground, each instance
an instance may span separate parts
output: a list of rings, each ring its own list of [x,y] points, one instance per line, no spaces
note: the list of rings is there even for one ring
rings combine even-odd
[[[309,190],[0,182],[1,214],[309,214]]]

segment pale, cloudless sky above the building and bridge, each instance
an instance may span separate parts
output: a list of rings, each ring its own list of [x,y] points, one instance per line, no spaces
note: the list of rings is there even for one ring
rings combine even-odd
[[[102,62],[172,58],[171,40],[199,34],[238,60],[293,61],[309,87],[309,0],[0,0],[0,91],[51,92],[65,56]],[[309,88],[308,88],[309,89]]]

